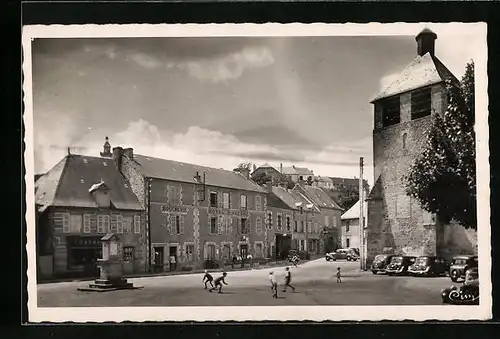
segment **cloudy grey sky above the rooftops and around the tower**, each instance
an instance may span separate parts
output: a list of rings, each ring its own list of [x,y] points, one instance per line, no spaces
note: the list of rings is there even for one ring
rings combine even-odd
[[[435,32],[437,56],[460,78],[476,46]],[[36,173],[67,147],[98,155],[109,136],[112,147],[229,170],[268,162],[354,177],[363,156],[373,182],[369,102],[416,57],[416,42],[60,38],[35,39],[32,53]]]

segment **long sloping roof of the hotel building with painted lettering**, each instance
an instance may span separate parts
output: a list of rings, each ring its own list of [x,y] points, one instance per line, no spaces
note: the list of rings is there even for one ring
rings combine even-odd
[[[265,193],[266,191],[255,182],[246,179],[242,174],[224,169],[217,169],[167,159],[148,157],[135,154],[134,160],[142,167],[145,177],[171,181],[195,183],[196,173],[203,177],[209,186],[232,188],[244,191]]]

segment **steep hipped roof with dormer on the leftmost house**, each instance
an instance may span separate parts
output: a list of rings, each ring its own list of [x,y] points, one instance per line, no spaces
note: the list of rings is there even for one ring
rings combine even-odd
[[[35,203],[50,206],[97,208],[89,189],[104,182],[116,209],[142,210],[127,181],[109,158],[70,154],[35,183]]]

